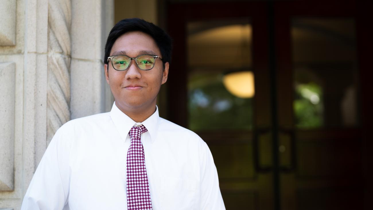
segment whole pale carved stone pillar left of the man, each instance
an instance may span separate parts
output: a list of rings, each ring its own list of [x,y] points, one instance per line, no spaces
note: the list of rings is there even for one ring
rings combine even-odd
[[[111,108],[113,0],[2,0],[0,19],[0,209],[16,210],[56,130]]]

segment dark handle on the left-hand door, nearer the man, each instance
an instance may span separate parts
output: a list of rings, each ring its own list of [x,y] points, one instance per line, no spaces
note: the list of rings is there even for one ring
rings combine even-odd
[[[272,166],[261,166],[260,164],[260,148],[259,148],[259,137],[261,135],[270,133],[272,129],[270,128],[263,128],[263,129],[255,129],[254,130],[254,141],[253,141],[253,154],[254,154],[254,165],[257,172],[270,172],[272,171]]]

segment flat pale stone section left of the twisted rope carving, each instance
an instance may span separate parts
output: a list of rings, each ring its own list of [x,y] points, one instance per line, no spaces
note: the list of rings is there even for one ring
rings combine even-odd
[[[47,144],[48,0],[3,0],[0,19],[0,209],[16,210]]]

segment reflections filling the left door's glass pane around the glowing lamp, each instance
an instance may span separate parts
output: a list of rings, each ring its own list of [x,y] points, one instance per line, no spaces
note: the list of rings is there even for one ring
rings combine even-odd
[[[223,75],[251,68],[251,25],[245,21],[188,24],[189,129],[250,130],[252,98],[228,92]]]

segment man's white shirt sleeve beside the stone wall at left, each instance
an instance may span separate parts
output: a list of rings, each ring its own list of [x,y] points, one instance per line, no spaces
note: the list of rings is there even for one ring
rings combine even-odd
[[[48,145],[23,198],[21,210],[62,210],[69,194],[70,133],[61,127]]]

